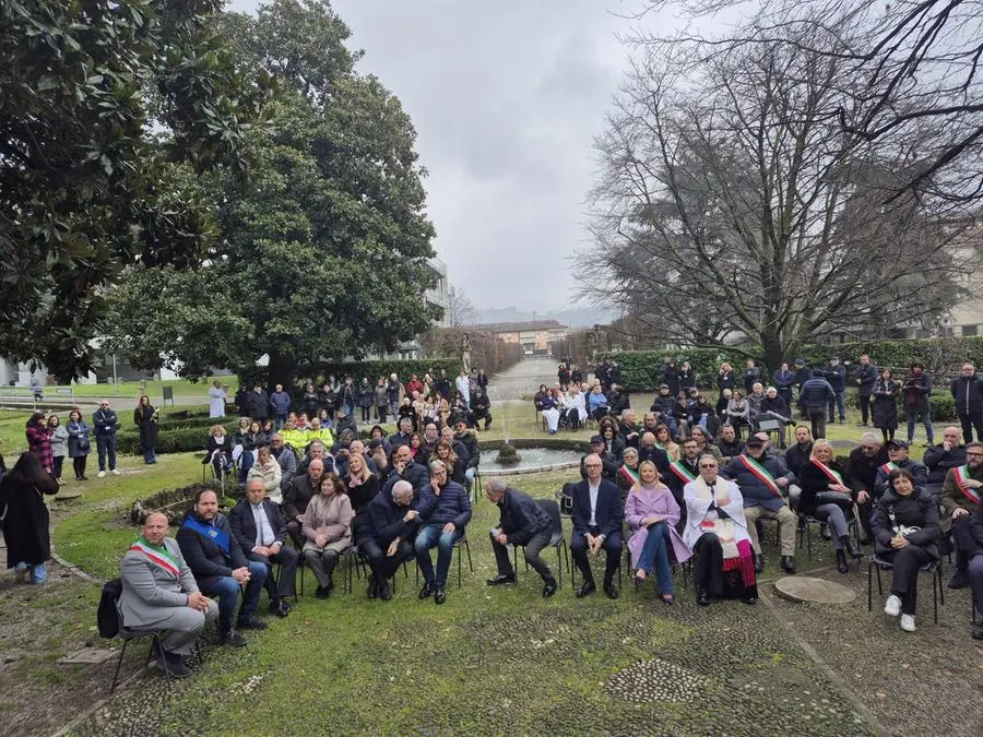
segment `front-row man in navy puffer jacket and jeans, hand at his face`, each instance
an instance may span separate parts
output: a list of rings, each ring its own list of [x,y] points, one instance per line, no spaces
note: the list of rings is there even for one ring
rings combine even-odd
[[[442,461],[430,461],[430,484],[421,496],[434,498],[434,507],[423,521],[413,545],[416,562],[424,576],[419,598],[433,594],[437,604],[447,601],[447,572],[454,554],[454,543],[464,536],[464,527],[471,520],[471,498],[463,486],[448,480],[447,466]],[[430,548],[437,547],[437,572],[430,560]]]

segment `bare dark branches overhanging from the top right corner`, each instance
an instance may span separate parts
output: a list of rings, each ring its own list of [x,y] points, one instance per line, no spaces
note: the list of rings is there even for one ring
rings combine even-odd
[[[741,4],[653,0],[639,17],[672,8],[698,22]],[[981,0],[762,0],[744,21],[716,37],[687,31],[674,38],[642,33],[635,40],[692,41],[711,56],[747,45],[789,44],[834,57],[851,84],[825,111],[837,116],[845,133],[867,142],[920,136],[920,147],[912,151],[919,166],[899,178],[898,191],[916,188],[962,202],[983,195]],[[934,134],[924,135],[926,130]]]

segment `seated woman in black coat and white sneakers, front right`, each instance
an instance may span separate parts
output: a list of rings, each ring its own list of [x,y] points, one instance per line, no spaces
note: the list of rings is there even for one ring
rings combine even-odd
[[[938,560],[938,502],[915,488],[908,469],[895,468],[888,475],[888,490],[871,518],[871,528],[876,538],[875,554],[895,566],[884,613],[891,617],[900,614],[901,629],[914,632],[919,569]]]

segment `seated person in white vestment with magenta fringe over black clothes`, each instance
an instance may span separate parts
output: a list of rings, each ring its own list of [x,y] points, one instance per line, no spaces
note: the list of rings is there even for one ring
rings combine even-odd
[[[696,556],[697,604],[707,606],[711,597],[720,598],[729,590],[739,592],[745,604],[756,604],[758,585],[741,489],[718,476],[712,455],[700,456],[699,464],[700,475],[683,487],[687,511],[683,540]],[[732,576],[739,583],[729,585]]]

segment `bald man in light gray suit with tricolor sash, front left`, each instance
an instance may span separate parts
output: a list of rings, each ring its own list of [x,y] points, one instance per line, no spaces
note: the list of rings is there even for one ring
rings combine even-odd
[[[191,675],[181,662],[205,622],[218,617],[218,605],[199,592],[177,540],[167,535],[167,516],[147,515],[140,537],[123,556],[119,611],[127,629],[162,629],[157,659],[177,678]]]

